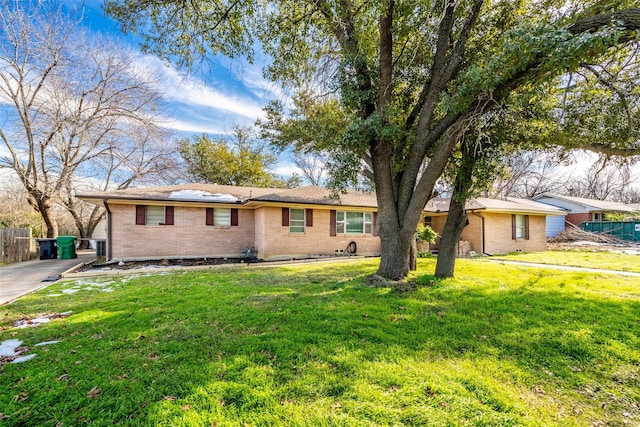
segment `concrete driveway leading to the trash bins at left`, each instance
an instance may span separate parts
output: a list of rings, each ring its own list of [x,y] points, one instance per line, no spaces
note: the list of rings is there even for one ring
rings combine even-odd
[[[75,259],[34,259],[0,266],[0,305],[45,288],[78,264],[96,259],[94,250],[81,250]]]

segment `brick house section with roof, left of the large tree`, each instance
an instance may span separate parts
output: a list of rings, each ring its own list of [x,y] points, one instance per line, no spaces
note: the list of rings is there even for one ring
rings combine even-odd
[[[236,258],[250,248],[265,260],[354,249],[380,254],[372,193],[350,191],[338,200],[321,187],[190,184],[78,198],[107,212],[108,260]]]

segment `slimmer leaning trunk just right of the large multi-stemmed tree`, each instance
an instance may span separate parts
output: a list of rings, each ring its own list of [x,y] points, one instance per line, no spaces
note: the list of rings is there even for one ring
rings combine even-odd
[[[467,213],[464,202],[451,200],[447,222],[442,231],[440,249],[438,249],[438,261],[436,262],[436,277],[453,277],[453,270],[458,255],[458,243],[462,230],[467,225]]]

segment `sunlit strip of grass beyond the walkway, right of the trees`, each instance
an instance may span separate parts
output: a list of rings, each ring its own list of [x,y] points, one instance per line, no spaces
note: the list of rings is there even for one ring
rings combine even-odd
[[[503,255],[496,257],[496,259],[640,273],[640,255],[605,251],[570,250],[531,252]]]

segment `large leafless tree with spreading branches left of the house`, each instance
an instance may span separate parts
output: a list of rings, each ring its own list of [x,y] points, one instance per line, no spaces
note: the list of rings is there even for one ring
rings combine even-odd
[[[0,168],[17,174],[47,237],[55,237],[53,205],[63,192],[65,207],[81,217],[70,195],[82,177],[104,187],[128,173],[119,184],[127,186],[167,167],[169,157],[154,145],[162,120],[156,76],[132,52],[89,39],[73,16],[50,5],[0,6]]]

